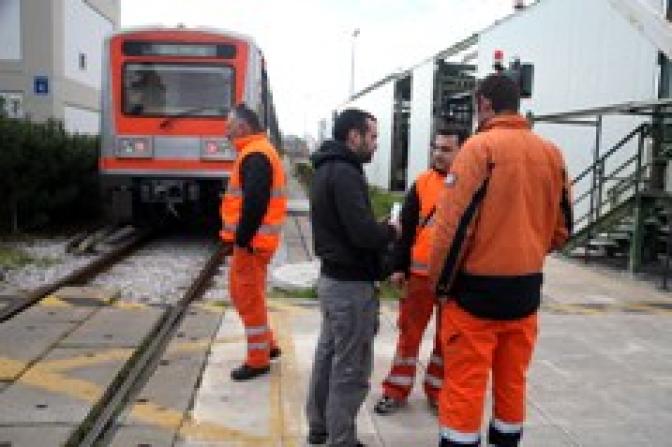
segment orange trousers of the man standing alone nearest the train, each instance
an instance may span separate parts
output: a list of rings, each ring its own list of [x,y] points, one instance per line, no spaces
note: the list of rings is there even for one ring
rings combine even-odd
[[[268,366],[271,348],[276,347],[266,309],[266,271],[272,252],[235,247],[231,260],[229,292],[245,326],[247,359],[253,368]]]

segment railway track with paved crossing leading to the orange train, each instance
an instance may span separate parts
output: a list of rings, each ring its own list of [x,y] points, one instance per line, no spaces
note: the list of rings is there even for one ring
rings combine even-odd
[[[207,320],[214,333],[221,314],[190,306],[207,290],[228,249],[203,238],[143,244],[149,238],[137,235],[5,309],[0,446],[100,445],[166,346],[184,335],[176,331],[185,315],[193,314],[196,327]],[[162,284],[166,278],[173,280],[170,287]],[[153,291],[134,293],[148,282]],[[64,288],[72,284],[86,287]],[[125,290],[102,292],[113,287]],[[99,301],[87,294],[109,296]]]

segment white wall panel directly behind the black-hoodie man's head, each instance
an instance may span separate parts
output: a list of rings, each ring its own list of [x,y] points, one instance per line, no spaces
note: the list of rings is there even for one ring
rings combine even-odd
[[[348,106],[358,107],[372,113],[378,120],[378,150],[373,161],[366,165],[369,184],[384,189],[390,188],[392,163],[392,118],[394,109],[394,81],[387,82],[366,95],[357,98]]]

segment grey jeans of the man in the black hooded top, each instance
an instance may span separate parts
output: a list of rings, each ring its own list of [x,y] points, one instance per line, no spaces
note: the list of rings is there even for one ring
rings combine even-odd
[[[328,433],[327,445],[357,445],[355,419],[369,391],[378,299],[372,282],[321,276],[317,285],[322,325],[315,349],[306,414],[311,432]]]

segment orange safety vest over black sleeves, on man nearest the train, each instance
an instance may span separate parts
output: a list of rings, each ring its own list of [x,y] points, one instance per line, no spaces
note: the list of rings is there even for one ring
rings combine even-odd
[[[233,243],[235,241],[236,228],[243,209],[243,189],[240,181],[241,166],[248,155],[261,153],[268,158],[273,170],[271,199],[266,214],[261,221],[261,226],[252,239],[251,246],[254,249],[274,251],[280,243],[280,231],[287,212],[285,174],[282,161],[263,133],[238,138],[234,140],[233,144],[238,150],[238,156],[233,164],[231,179],[220,206],[220,214],[224,223],[220,237],[225,242]]]

